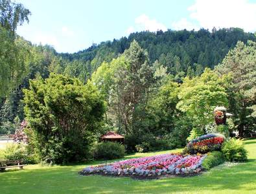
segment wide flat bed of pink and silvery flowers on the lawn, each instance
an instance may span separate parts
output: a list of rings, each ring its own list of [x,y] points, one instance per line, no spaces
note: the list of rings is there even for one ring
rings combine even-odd
[[[161,175],[193,175],[202,171],[206,155],[165,154],[122,160],[113,164],[90,166],[80,175],[114,175],[132,177],[159,177]]]

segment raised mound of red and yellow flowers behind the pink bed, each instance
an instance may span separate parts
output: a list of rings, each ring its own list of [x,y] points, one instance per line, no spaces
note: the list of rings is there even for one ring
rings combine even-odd
[[[207,153],[209,151],[218,151],[224,143],[225,137],[218,134],[202,135],[199,138],[191,140],[187,144],[187,152],[190,154]]]

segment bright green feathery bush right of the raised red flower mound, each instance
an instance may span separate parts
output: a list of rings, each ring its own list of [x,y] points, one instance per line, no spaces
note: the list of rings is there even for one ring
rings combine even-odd
[[[244,148],[242,140],[231,138],[222,146],[222,152],[227,161],[245,162],[247,160],[247,151]]]

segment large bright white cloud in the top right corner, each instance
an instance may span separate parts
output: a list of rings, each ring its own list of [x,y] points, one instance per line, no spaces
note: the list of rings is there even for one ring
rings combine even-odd
[[[196,19],[200,27],[239,27],[245,31],[256,30],[256,3],[246,0],[196,0],[188,8],[191,19]]]

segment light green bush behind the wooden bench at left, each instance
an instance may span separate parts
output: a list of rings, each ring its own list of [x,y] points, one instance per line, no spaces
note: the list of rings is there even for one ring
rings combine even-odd
[[[11,144],[4,151],[5,160],[23,160],[24,164],[36,164],[36,158],[27,151],[24,144]]]

